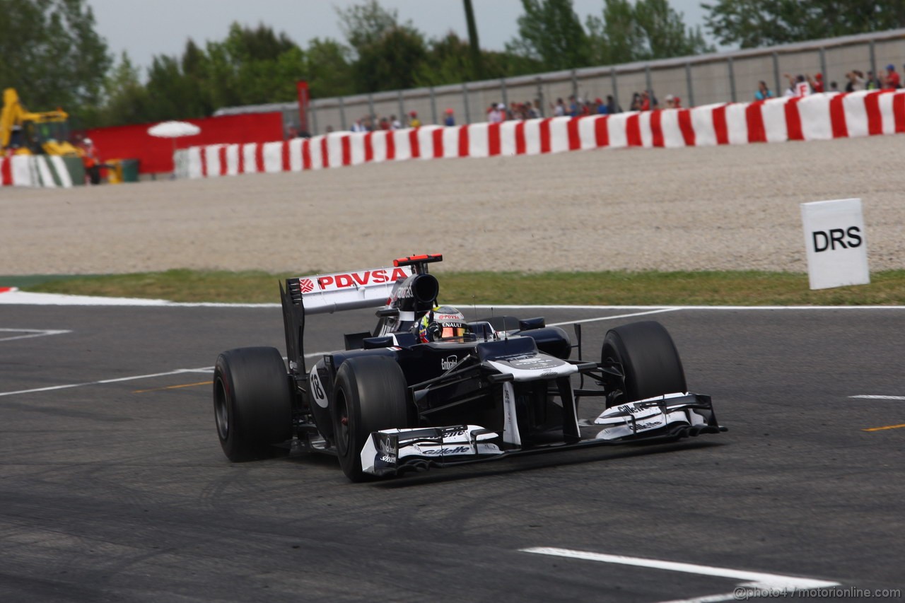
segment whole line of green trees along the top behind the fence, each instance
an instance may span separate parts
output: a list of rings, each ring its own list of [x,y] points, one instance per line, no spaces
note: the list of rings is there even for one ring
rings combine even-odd
[[[471,0],[464,0],[466,12]],[[306,46],[267,25],[234,23],[223,40],[186,41],[142,74],[113,57],[85,0],[0,0],[0,87],[31,110],[62,107],[82,128],[201,118],[221,107],[497,79],[713,52],[667,0],[601,0],[584,23],[572,0],[521,0],[518,35],[500,52],[450,31],[429,38],[378,0],[337,10],[345,40]],[[717,0],[701,5],[724,46],[757,48],[905,27],[901,0]],[[144,77],[143,77],[144,76]]]

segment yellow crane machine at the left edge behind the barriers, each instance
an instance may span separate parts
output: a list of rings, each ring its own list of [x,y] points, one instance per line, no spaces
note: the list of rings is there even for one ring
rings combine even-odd
[[[26,110],[14,88],[3,92],[0,112],[0,155],[59,155],[81,157],[84,151],[69,142],[69,113],[62,109],[33,113]]]

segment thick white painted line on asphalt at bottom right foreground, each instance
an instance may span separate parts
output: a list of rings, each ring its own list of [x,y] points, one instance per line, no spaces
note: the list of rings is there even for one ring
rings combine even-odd
[[[617,563],[619,565],[631,565],[639,568],[650,568],[652,570],[681,571],[689,574],[697,574],[699,576],[712,576],[716,578],[743,580],[745,583],[741,584],[740,586],[748,587],[751,589],[786,589],[791,591],[794,589],[824,589],[839,585],[839,582],[831,582],[829,580],[795,578],[793,576],[767,574],[760,571],[732,570],[729,568],[715,568],[709,565],[643,559],[641,557],[626,557],[624,555],[607,555],[604,553],[595,553],[587,550],[556,549],[551,547],[533,547],[530,549],[519,550],[521,550],[522,552],[538,553],[541,555],[553,555],[555,557],[567,557],[571,559],[600,561],[603,563]],[[688,598],[681,600],[684,603],[688,603],[690,601],[728,601],[735,597],[736,593],[728,593],[710,595],[704,598]],[[672,601],[671,603],[678,603],[678,601]]]

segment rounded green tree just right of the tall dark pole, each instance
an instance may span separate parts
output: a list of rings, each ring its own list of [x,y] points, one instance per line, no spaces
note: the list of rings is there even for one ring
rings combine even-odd
[[[525,14],[519,16],[519,37],[506,44],[510,53],[540,62],[557,71],[591,64],[585,29],[572,0],[521,0]]]

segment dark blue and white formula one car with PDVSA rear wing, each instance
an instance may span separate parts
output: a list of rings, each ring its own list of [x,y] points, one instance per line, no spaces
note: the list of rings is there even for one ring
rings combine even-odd
[[[214,417],[231,461],[274,446],[337,455],[353,481],[511,455],[716,434],[710,397],[688,393],[681,359],[658,322],[606,333],[599,362],[581,360],[581,330],[543,318],[465,322],[437,308],[428,264],[294,278],[281,286],[289,371],[274,348],[224,351],[214,368]],[[376,329],[306,368],[311,314],[379,308]],[[578,360],[569,360],[578,348]],[[585,380],[596,388],[584,388]],[[578,387],[576,386],[578,382]],[[599,414],[579,419],[580,398]]]

